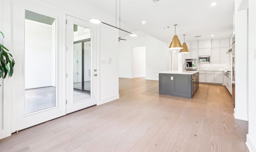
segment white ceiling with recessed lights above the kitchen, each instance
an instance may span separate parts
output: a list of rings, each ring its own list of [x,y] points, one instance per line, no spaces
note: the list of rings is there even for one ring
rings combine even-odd
[[[121,29],[132,33],[143,31],[165,43],[170,43],[175,34],[174,24],[178,24],[176,35],[181,42],[183,34],[186,34],[185,42],[222,39],[232,35],[234,0],[86,1],[111,14],[114,20],[118,20],[120,12]],[[216,2],[216,6],[211,6],[212,2]],[[112,22],[102,21],[108,24]],[[142,21],[146,23],[142,24]],[[120,32],[119,36],[124,37],[124,34],[127,35]],[[199,35],[201,37],[195,37]]]

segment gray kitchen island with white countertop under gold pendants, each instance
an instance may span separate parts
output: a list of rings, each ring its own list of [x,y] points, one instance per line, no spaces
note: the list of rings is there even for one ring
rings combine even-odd
[[[170,70],[159,73],[159,94],[192,98],[199,86],[198,71]]]

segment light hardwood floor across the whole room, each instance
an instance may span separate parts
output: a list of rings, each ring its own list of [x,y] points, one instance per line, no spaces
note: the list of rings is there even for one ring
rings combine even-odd
[[[225,86],[192,99],[158,94],[158,81],[119,79],[120,99],[0,140],[1,152],[248,152],[248,122],[234,119]]]

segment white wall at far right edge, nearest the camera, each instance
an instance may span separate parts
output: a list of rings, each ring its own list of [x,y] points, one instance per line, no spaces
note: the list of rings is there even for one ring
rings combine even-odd
[[[249,0],[249,21],[248,21],[248,113],[249,113],[249,128],[246,138],[246,144],[251,152],[256,152],[256,1]]]

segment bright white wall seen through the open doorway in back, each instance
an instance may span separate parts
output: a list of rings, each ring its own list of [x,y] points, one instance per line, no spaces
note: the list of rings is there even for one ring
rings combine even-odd
[[[133,48],[132,78],[146,76],[146,47]]]

